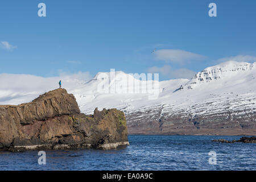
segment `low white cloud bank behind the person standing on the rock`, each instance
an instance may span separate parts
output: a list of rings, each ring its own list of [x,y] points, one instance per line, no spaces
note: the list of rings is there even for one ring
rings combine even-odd
[[[59,88],[62,81],[63,88],[68,92],[78,89],[92,78],[89,72],[64,73],[56,77],[40,77],[34,75],[0,74],[0,105],[17,105],[32,101],[39,94]]]

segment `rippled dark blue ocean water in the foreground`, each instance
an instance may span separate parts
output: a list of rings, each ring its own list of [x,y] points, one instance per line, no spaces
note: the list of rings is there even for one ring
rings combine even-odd
[[[130,146],[118,150],[0,152],[1,170],[256,170],[256,143],[217,143],[221,136],[129,135]],[[209,164],[209,152],[216,164]]]

